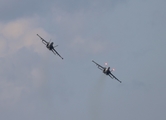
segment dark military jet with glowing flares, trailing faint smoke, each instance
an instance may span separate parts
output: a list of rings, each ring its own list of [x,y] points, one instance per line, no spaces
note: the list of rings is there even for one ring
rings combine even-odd
[[[98,68],[103,71],[104,74],[109,75],[112,79],[115,78],[117,81],[119,81],[119,82],[121,83],[121,81],[118,80],[118,79],[111,73],[111,72],[114,71],[114,69],[112,69],[112,70],[110,71],[110,67],[108,67],[108,68],[103,67],[103,66],[99,65],[98,63],[96,63],[96,62],[93,61],[93,60],[92,60],[92,62],[94,62],[94,63],[98,66]]]

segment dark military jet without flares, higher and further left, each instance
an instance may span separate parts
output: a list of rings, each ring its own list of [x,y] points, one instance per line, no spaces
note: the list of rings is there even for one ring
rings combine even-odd
[[[47,42],[46,40],[44,40],[41,36],[39,36],[38,34],[37,34],[37,36],[42,40],[42,43],[43,44],[45,44],[46,45],[46,47],[49,49],[49,50],[51,50],[55,55],[57,54],[60,58],[62,58],[61,56],[60,56],[60,54],[55,50],[55,48],[54,47],[57,47],[58,45],[56,45],[56,46],[53,46],[53,42]],[[63,58],[62,58],[63,59]]]

